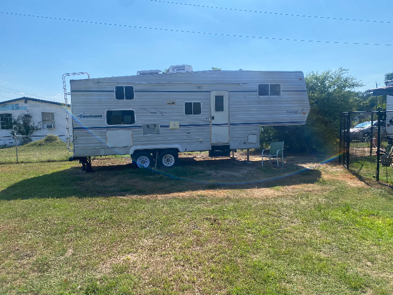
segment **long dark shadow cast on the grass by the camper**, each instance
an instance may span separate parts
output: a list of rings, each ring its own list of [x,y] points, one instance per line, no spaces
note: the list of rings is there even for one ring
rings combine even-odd
[[[28,178],[0,191],[1,200],[65,197],[129,196],[173,197],[209,196],[212,190],[271,188],[317,182],[321,172],[297,164],[274,168],[269,162],[236,159],[197,160],[180,158],[170,169],[136,169],[129,159],[103,159],[93,162],[94,173],[80,167]],[[169,196],[168,196],[169,197]]]

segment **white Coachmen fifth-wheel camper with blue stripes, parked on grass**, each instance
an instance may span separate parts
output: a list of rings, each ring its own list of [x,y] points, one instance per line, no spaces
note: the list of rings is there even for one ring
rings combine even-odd
[[[175,166],[178,152],[259,148],[259,128],[305,124],[301,71],[192,71],[70,81],[74,156],[131,154],[138,167]],[[158,155],[158,156],[157,156]]]

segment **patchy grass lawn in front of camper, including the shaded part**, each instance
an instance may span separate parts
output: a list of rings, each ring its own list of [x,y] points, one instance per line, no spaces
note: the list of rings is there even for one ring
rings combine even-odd
[[[0,294],[393,294],[391,189],[337,164],[0,165]]]

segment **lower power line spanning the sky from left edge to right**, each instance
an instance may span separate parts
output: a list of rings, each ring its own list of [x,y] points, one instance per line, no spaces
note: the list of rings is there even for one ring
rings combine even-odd
[[[162,29],[162,28],[150,28],[150,27],[119,25],[119,24],[90,22],[90,21],[81,21],[81,20],[71,20],[71,19],[63,19],[63,18],[57,18],[57,17],[39,16],[39,15],[30,15],[30,14],[21,14],[21,13],[12,13],[12,12],[3,12],[3,11],[0,11],[0,13],[11,14],[11,15],[20,15],[20,16],[30,16],[30,17],[52,19],[52,20],[59,20],[59,21],[70,21],[70,22],[78,22],[78,23],[86,23],[86,24],[95,24],[95,25],[107,25],[107,26],[126,27],[126,28],[135,28],[135,29],[155,29],[155,30],[163,30],[163,31],[171,31],[171,32],[194,33],[194,34],[205,34],[205,35],[215,35],[215,36],[243,37],[243,38],[282,40],[282,41],[314,42],[314,43],[393,46],[393,44],[302,40],[302,39],[288,39],[288,38],[276,38],[276,37],[258,37],[258,36],[235,35],[235,34],[209,33],[209,32],[198,32],[198,31],[181,30],[181,29]]]

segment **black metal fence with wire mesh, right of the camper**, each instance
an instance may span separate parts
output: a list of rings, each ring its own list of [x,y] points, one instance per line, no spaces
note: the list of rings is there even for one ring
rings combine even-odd
[[[393,185],[393,112],[341,113],[339,140],[342,166]]]

